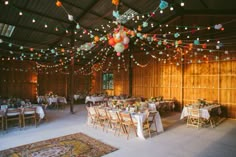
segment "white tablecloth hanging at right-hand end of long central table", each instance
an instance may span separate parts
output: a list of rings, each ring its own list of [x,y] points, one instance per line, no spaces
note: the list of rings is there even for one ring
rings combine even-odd
[[[144,137],[144,133],[143,133],[143,122],[146,119],[146,113],[136,113],[132,115],[132,118],[134,118],[134,120],[137,121],[137,134],[138,137],[141,139],[145,139]],[[156,126],[157,126],[157,132],[163,132],[164,128],[162,125],[162,121],[161,121],[161,117],[159,112],[157,111],[156,114]],[[154,124],[151,126],[152,128],[154,128]]]

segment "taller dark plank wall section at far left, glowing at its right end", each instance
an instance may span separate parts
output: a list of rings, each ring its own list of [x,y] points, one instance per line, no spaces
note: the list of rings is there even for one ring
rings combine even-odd
[[[1,61],[0,96],[35,99],[37,95],[37,73],[33,62]]]

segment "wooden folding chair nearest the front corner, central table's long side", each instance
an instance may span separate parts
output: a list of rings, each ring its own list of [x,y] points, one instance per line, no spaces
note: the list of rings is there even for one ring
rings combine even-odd
[[[127,134],[127,140],[129,139],[130,129],[132,128],[137,135],[137,123],[133,121],[129,112],[120,112],[121,125],[124,128],[124,133]]]

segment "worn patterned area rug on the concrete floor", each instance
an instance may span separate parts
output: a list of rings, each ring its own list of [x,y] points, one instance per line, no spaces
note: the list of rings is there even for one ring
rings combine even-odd
[[[0,157],[100,157],[117,150],[83,133],[0,151]]]

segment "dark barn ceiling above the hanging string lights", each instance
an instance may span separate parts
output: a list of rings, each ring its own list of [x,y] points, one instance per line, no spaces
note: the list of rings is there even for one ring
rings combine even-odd
[[[179,32],[178,40],[193,42],[199,37],[200,40],[214,38],[216,42],[217,40],[225,42],[224,49],[227,45],[231,51],[234,49],[235,0],[165,1],[169,6],[161,14],[160,1],[157,0],[121,0],[118,7],[113,5],[111,0],[60,0],[61,7],[56,5],[56,0],[1,0],[0,23],[15,26],[15,29],[10,37],[0,35],[0,57],[33,60],[40,64],[66,65],[71,56],[78,65],[99,62],[102,56],[110,56],[115,52],[106,39],[93,43],[94,36],[101,39],[112,33],[117,27],[113,11],[118,10],[122,15],[129,9],[135,12],[136,16],[122,25],[136,33],[138,26],[147,21],[148,27],[143,27],[140,31],[142,35],[161,34],[159,37],[164,41],[164,38],[168,38],[168,34],[171,34],[172,37],[168,40],[177,40],[173,35]],[[181,6],[181,2],[184,2],[184,6]],[[68,15],[73,16],[73,21],[69,20]],[[76,28],[78,24],[79,29]],[[216,24],[222,24],[225,30],[220,33],[215,32]],[[197,29],[205,29],[208,26],[212,28],[210,32],[202,31],[195,34]],[[186,32],[191,36],[184,35]],[[142,40],[137,36],[131,39],[132,43],[129,45],[131,53],[145,51],[148,47],[152,48],[149,50],[151,51],[158,45],[157,42],[149,40],[136,43],[137,38]],[[91,45],[91,50],[82,50],[83,47]],[[144,45],[147,45],[147,48]],[[157,50],[162,48],[160,46]]]

